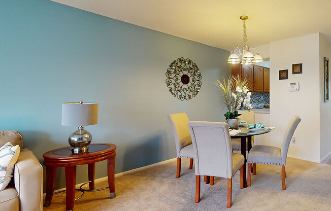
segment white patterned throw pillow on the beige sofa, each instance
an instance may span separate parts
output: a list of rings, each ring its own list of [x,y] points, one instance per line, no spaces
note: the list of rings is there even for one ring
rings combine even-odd
[[[18,145],[10,142],[0,147],[0,191],[3,191],[13,177],[14,165],[20,153]]]

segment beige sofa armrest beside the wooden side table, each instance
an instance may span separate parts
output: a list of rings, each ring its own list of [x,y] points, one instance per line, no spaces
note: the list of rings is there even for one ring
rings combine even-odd
[[[43,209],[43,167],[28,149],[21,149],[15,164],[14,183],[21,211]]]

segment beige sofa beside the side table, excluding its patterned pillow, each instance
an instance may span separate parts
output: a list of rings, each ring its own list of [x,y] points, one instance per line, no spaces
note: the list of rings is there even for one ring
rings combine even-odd
[[[23,136],[14,130],[0,130],[0,146],[7,142],[22,148]],[[42,210],[42,197],[43,168],[30,150],[21,149],[14,177],[7,188],[0,191],[0,210]]]

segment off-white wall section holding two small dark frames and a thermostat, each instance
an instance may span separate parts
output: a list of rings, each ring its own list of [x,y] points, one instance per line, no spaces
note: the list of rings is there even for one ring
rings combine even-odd
[[[299,115],[302,121],[288,156],[313,162],[320,161],[319,61],[319,33],[270,43],[270,123],[276,126],[270,145],[281,147],[289,120]],[[303,64],[303,74],[292,75],[296,63]],[[279,80],[281,69],[288,69],[288,80]],[[299,81],[300,91],[288,91],[293,81]]]

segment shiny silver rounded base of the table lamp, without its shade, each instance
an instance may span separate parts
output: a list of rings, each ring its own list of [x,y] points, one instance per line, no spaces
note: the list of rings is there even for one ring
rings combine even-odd
[[[82,154],[88,152],[88,145],[91,143],[92,135],[89,131],[84,130],[83,126],[79,126],[78,130],[69,136],[70,150],[74,154]]]

